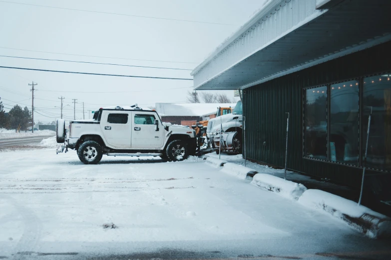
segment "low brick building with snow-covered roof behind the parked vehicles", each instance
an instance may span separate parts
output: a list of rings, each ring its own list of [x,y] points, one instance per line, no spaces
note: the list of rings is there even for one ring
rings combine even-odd
[[[156,111],[163,122],[191,126],[205,117],[215,115],[219,107],[235,107],[235,103],[156,103]]]

